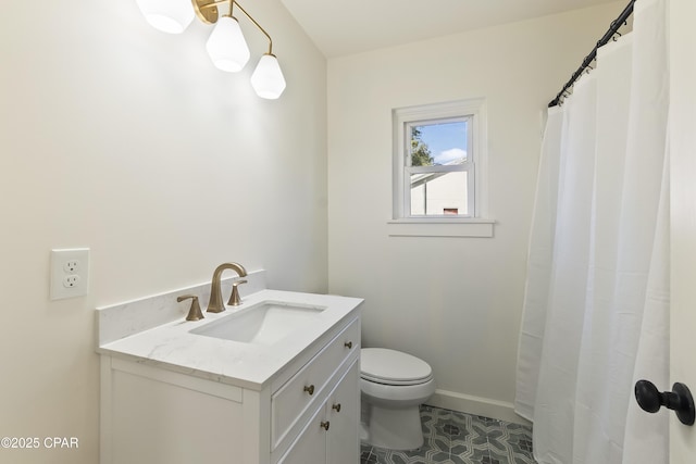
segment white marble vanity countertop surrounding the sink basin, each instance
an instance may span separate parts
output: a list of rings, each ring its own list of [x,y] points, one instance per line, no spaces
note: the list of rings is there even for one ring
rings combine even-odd
[[[316,314],[311,324],[274,344],[245,343],[190,333],[191,329],[262,301],[326,309]],[[361,302],[359,298],[261,290],[245,297],[241,305],[227,306],[227,311],[222,313],[207,313],[203,306],[206,318],[202,321],[189,322],[182,316],[181,319],[102,343],[97,351],[209,380],[261,390],[316,340],[355,317]]]

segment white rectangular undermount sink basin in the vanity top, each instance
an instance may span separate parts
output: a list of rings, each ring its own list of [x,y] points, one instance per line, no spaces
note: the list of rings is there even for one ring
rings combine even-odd
[[[265,301],[195,328],[190,334],[245,343],[273,344],[293,331],[307,327],[324,310],[324,306]]]

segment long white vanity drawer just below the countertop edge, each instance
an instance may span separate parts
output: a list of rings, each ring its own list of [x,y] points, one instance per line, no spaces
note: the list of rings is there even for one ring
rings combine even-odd
[[[271,397],[271,449],[314,401],[326,396],[324,387],[334,372],[360,350],[360,319],[350,323]]]

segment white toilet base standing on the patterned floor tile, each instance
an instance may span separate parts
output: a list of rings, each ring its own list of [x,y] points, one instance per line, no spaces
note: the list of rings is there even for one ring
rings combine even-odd
[[[373,404],[368,421],[368,444],[389,450],[414,450],[423,446],[418,405],[390,409]]]

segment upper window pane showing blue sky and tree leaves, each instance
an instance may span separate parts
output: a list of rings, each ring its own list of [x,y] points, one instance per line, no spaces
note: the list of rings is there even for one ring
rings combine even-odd
[[[468,120],[410,126],[411,165],[433,166],[465,163]]]

